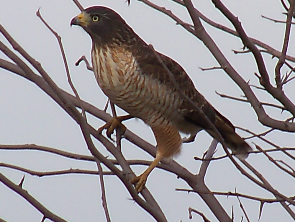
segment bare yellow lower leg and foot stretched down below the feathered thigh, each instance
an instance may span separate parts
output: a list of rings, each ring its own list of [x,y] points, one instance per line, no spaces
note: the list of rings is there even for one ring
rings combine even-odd
[[[137,191],[137,193],[140,193],[142,191],[142,189],[145,186],[145,183],[146,183],[146,181],[148,179],[148,175],[158,165],[158,163],[161,161],[162,157],[163,157],[163,155],[160,152],[157,152],[156,158],[150,164],[150,166],[145,170],[145,172],[143,172],[140,176],[137,176],[137,177],[134,177],[134,178],[131,179],[130,182],[132,184],[137,183],[135,185],[135,190]]]

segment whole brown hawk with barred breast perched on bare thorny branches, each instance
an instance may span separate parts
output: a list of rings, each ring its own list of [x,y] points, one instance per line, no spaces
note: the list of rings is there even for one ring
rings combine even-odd
[[[204,129],[218,139],[200,110],[220,132],[232,154],[242,159],[248,156],[251,147],[235,133],[232,123],[196,90],[184,69],[153,50],[117,12],[92,6],[74,17],[72,25],[81,26],[92,39],[91,60],[98,85],[110,101],[130,114],[106,123],[103,128],[107,128],[107,134],[122,127],[122,120],[130,117],[142,119],[153,130],[156,157],[145,172],[131,179],[137,192],[163,158],[180,152],[179,132],[190,134],[193,141],[196,133]]]

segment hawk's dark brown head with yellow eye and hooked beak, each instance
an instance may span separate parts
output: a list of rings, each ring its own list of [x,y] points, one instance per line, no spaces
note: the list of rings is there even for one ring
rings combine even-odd
[[[92,6],[71,20],[81,26],[96,43],[121,42],[130,39],[134,32],[114,10],[104,6]]]

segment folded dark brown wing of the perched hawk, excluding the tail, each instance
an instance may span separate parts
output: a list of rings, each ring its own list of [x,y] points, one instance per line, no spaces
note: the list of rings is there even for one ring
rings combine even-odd
[[[171,89],[174,92],[178,91],[171,81],[169,74],[155,56],[155,52],[153,52],[153,50],[148,45],[145,45],[144,47],[136,47],[134,54],[143,74],[150,75],[154,79],[158,79],[161,84],[165,84],[168,89]],[[207,102],[207,100],[196,90],[194,83],[186,74],[186,71],[184,71],[184,69],[176,61],[169,58],[168,56],[165,56],[161,53],[158,53],[158,55],[173,74],[181,91],[186,94],[207,115],[212,123],[215,123],[216,115],[221,114],[217,112],[214,107],[212,107],[212,105],[210,105],[210,103]],[[184,99],[179,109],[183,111],[184,118],[187,121],[194,123],[195,125],[204,129],[210,128],[206,120],[204,120],[204,118],[202,118],[199,114],[199,111],[196,110],[188,100]],[[222,115],[221,118],[226,120],[226,118]],[[234,130],[232,124],[228,120],[227,122]]]

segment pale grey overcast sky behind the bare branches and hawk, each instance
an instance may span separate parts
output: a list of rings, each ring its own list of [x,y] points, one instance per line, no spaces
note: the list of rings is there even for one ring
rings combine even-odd
[[[217,91],[236,97],[242,95],[240,89],[223,71],[202,72],[199,69],[199,67],[212,67],[218,66],[218,64],[198,39],[183,30],[182,27],[175,25],[175,22],[170,18],[135,0],[131,1],[129,7],[124,0],[81,0],[80,2],[84,7],[99,4],[117,11],[147,43],[153,44],[156,50],[178,61],[194,81],[196,88],[234,125],[248,128],[257,133],[267,129],[258,123],[250,105],[222,99],[215,93]],[[161,6],[165,5],[184,21],[191,22],[185,8],[167,0],[154,2]],[[201,12],[214,21],[232,27],[215,9],[211,1],[193,2]],[[279,0],[224,0],[223,2],[235,15],[239,16],[248,35],[281,50],[284,25],[261,18],[263,14],[275,19],[285,19],[285,16],[281,14],[283,8]],[[83,63],[79,67],[74,66],[81,55],[90,58],[91,39],[80,27],[70,28],[71,19],[79,13],[78,8],[71,0],[2,0],[0,3],[0,23],[31,56],[42,63],[47,73],[61,88],[71,92],[57,41],[35,15],[39,7],[41,7],[40,11],[44,19],[62,36],[71,76],[80,96],[87,102],[103,109],[106,96],[96,84],[93,73],[87,71]],[[240,50],[242,48],[241,41],[207,25],[205,28],[243,78],[250,79],[251,84],[258,84],[253,74],[257,72],[253,56],[250,54],[234,55],[231,51],[232,49]],[[9,45],[2,36],[0,39]],[[294,55],[294,49],[294,34],[292,33],[288,53]],[[0,57],[7,59],[1,53]],[[264,55],[264,59],[269,73],[273,75],[277,60],[272,60],[269,55]],[[287,69],[282,69],[282,73],[286,71]],[[284,89],[289,98],[294,101],[294,82],[289,83]],[[255,93],[261,101],[272,102],[271,97],[266,96],[263,92],[255,91]],[[79,126],[30,81],[0,69],[0,95],[1,144],[34,143],[69,152],[89,154]],[[119,114],[123,113],[122,111],[118,112]],[[280,114],[279,110],[267,109],[267,112],[277,119],[289,117],[284,112]],[[103,124],[102,121],[93,117],[89,117],[89,121],[96,128]],[[128,120],[125,123],[137,135],[155,144],[151,130],[140,120]],[[237,132],[242,136],[248,136],[242,131],[238,130]],[[274,132],[269,134],[267,138],[280,146],[294,146],[294,134]],[[181,155],[176,158],[176,161],[191,172],[197,173],[199,162],[194,161],[193,157],[201,157],[211,140],[212,138],[207,133],[198,133],[194,143],[183,145]],[[256,139],[249,142],[252,141],[265,149],[269,148],[266,143]],[[95,144],[101,153],[108,155],[100,143],[95,142]],[[151,156],[127,141],[123,140],[122,147],[127,159],[153,160]],[[223,151],[219,145],[215,155],[222,154]],[[279,154],[274,156],[283,159]],[[277,190],[285,195],[294,195],[294,180],[281,173],[266,158],[262,155],[252,154],[248,160]],[[94,163],[68,160],[36,151],[0,150],[0,162],[38,171],[69,168],[96,169]],[[146,167],[133,167],[133,169],[139,175]],[[6,168],[0,168],[0,172],[15,183],[19,183],[23,175]],[[241,193],[273,197],[270,193],[257,188],[248,181],[227,159],[210,164],[206,183],[214,191],[234,191],[237,188],[237,191]],[[109,212],[113,222],[154,221],[136,203],[128,200],[130,195],[119,179],[106,176],[105,184]],[[175,175],[156,169],[150,174],[146,185],[163,209],[168,221],[190,221],[187,210],[189,207],[202,211],[211,221],[216,221],[198,195],[175,191],[175,188],[189,188]],[[65,220],[105,221],[97,176],[75,174],[38,178],[26,175],[23,187],[49,210]],[[237,199],[235,197],[218,197],[218,199],[229,214],[233,205],[236,221],[240,221],[242,212]],[[1,218],[10,222],[41,221],[42,215],[35,208],[1,183],[0,200]],[[242,202],[251,221],[257,221],[259,203],[245,199],[242,199]],[[192,221],[201,221],[201,218],[194,215]],[[260,221],[291,221],[291,217],[281,205],[266,204]]]

